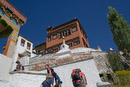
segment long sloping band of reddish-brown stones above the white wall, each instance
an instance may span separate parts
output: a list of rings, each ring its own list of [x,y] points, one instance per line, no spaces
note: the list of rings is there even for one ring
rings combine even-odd
[[[82,54],[78,53],[77,55],[72,54],[72,56],[68,56],[65,58],[45,59],[40,62],[36,62],[34,64],[25,65],[24,67],[27,68],[27,70],[42,70],[42,69],[45,69],[45,64],[49,64],[51,67],[55,67],[55,66],[60,66],[60,65],[64,65],[64,64],[84,61],[84,60],[91,59],[91,58],[92,57],[88,54],[83,55],[83,53]]]

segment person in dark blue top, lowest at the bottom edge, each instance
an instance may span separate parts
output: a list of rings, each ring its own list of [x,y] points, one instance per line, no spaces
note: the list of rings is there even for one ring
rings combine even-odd
[[[42,82],[40,87],[54,87],[53,83],[54,83],[53,77],[46,77],[46,80]]]

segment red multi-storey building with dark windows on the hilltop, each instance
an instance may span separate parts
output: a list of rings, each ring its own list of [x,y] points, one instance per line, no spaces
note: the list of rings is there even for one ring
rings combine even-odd
[[[62,44],[62,36],[65,37],[65,43],[70,49],[78,47],[88,47],[87,35],[78,19],[71,20],[57,27],[47,29],[47,52],[57,52]]]

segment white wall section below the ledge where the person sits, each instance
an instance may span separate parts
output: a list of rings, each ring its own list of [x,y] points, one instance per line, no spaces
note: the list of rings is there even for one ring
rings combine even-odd
[[[45,75],[16,73],[12,74],[8,87],[40,87],[45,78]]]

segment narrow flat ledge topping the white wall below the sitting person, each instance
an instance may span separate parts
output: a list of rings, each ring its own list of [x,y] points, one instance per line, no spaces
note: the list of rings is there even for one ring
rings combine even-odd
[[[21,73],[21,74],[47,75],[47,73],[37,72],[37,71],[12,71],[12,72],[9,72],[9,73],[10,74]]]

